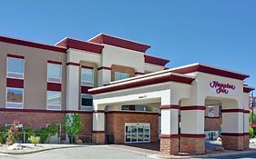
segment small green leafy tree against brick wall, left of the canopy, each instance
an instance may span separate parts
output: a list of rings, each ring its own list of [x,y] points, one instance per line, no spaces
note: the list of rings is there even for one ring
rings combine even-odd
[[[65,120],[65,130],[70,137],[70,143],[73,143],[74,137],[77,139],[78,134],[82,131],[82,122],[79,114],[67,114]]]

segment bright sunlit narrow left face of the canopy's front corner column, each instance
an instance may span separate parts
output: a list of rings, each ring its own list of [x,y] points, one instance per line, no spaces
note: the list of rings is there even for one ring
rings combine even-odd
[[[179,105],[161,105],[160,152],[179,154]]]

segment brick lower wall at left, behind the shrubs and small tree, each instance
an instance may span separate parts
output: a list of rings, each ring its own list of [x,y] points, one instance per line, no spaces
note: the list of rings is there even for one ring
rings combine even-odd
[[[32,126],[36,129],[45,127],[46,124],[61,124],[61,136],[62,139],[65,138],[65,113],[47,113],[46,111],[19,111],[19,112],[11,112],[11,111],[0,111],[0,126],[4,126],[8,123],[13,123],[13,121],[17,120],[20,124],[23,124],[24,128],[27,126]],[[80,114],[81,121],[83,124],[83,131],[80,135],[92,134],[92,114]]]

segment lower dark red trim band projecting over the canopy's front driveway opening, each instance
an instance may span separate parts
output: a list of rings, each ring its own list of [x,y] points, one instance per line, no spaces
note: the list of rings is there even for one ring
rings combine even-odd
[[[167,75],[162,75],[162,76],[156,76],[151,79],[134,81],[133,83],[129,83],[129,84],[119,84],[119,85],[114,85],[111,87],[102,87],[101,89],[97,89],[97,90],[91,90],[91,91],[89,90],[89,93],[102,94],[102,93],[111,92],[111,91],[118,91],[121,89],[134,88],[134,87],[149,85],[149,84],[159,84],[159,83],[164,83],[164,82],[169,82],[169,81],[179,82],[179,83],[184,83],[184,84],[191,84],[192,81],[194,81],[194,78],[167,74]]]

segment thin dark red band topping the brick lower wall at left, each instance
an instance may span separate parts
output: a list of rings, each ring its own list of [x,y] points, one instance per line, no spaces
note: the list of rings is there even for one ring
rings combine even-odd
[[[54,114],[92,114],[92,111],[53,111],[45,109],[11,109],[0,108],[0,112],[31,112],[31,113],[54,113]]]

